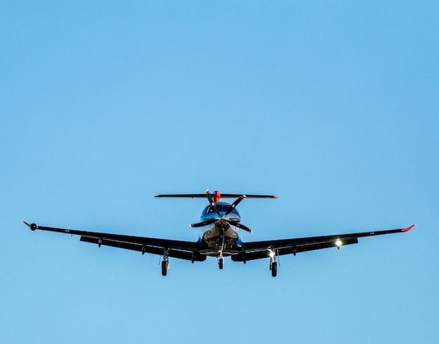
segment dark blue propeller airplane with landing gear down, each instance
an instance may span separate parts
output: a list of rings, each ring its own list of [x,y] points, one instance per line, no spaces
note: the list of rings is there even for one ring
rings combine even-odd
[[[358,238],[370,237],[374,235],[384,235],[391,233],[404,233],[410,231],[416,224],[400,229],[387,231],[374,231],[364,233],[350,233],[338,235],[323,235],[309,238],[293,238],[281,240],[265,240],[256,242],[243,242],[240,238],[240,230],[252,232],[250,228],[241,223],[241,215],[236,206],[245,198],[277,198],[275,195],[239,195],[231,193],[213,194],[207,190],[205,193],[176,194],[176,195],[156,195],[156,198],[207,198],[209,205],[201,213],[201,221],[193,223],[192,228],[207,229],[201,232],[201,236],[196,242],[168,240],[158,238],[144,238],[130,235],[76,231],[72,229],[52,228],[37,226],[35,223],[29,224],[23,221],[32,231],[51,231],[67,233],[71,235],[81,235],[80,240],[101,245],[119,247],[142,252],[142,254],[158,254],[161,260],[161,274],[166,276],[169,269],[169,258],[186,259],[194,263],[195,261],[205,261],[208,256],[218,259],[219,269],[224,266],[224,258],[231,257],[232,261],[246,263],[254,259],[269,258],[269,269],[271,275],[276,277],[278,270],[279,256],[284,254],[294,254],[299,252],[312,251],[315,249],[325,249],[343,245],[357,244]],[[236,198],[233,203],[221,202],[221,198]]]

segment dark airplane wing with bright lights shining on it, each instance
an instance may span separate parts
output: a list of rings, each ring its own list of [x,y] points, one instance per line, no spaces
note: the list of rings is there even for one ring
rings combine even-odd
[[[314,249],[326,249],[328,247],[340,247],[342,245],[358,244],[358,238],[371,237],[392,233],[410,231],[416,225],[407,228],[391,229],[388,231],[350,233],[339,235],[324,235],[319,237],[267,240],[256,242],[241,242],[242,251],[231,256],[233,261],[250,261],[252,259],[266,258],[270,253],[281,256],[283,254],[296,254],[298,252],[312,251]]]

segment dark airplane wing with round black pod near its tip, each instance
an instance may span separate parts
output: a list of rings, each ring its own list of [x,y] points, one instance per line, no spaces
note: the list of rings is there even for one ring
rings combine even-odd
[[[53,228],[36,226],[35,223],[29,224],[25,222],[32,231],[39,229],[40,231],[50,231],[57,233],[66,233],[71,235],[81,235],[81,241],[90,242],[101,245],[119,247],[121,249],[131,249],[133,251],[142,252],[142,254],[151,253],[163,255],[168,250],[168,256],[187,259],[189,261],[204,261],[205,255],[199,254],[198,249],[201,248],[201,242],[189,242],[179,240],[168,240],[158,238],[136,237],[131,235],[120,235],[110,233],[76,231],[72,229]]]

